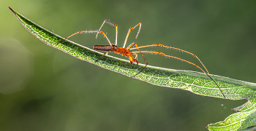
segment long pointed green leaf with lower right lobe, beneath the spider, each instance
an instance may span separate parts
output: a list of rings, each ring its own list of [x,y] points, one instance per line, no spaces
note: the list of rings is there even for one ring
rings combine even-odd
[[[118,57],[108,55],[105,55],[98,60],[99,57],[102,56],[101,52],[89,49],[88,47],[83,47],[82,45],[76,44],[75,42],[69,40],[59,43],[60,41],[64,40],[64,38],[46,30],[45,28],[42,28],[26,17],[23,17],[23,15],[20,15],[18,12],[15,12],[13,9],[11,10],[18,18],[20,23],[39,40],[43,41],[45,44],[48,44],[50,47],[54,47],[62,52],[66,52],[67,54],[80,60],[93,63],[101,68],[115,71],[129,77],[137,74],[145,66],[143,64],[131,64],[128,60],[123,60]],[[243,106],[234,108],[234,110],[238,111],[238,113],[231,114],[227,117],[227,119],[225,119],[225,121],[217,122],[215,124],[208,124],[208,130],[243,130],[247,127],[252,128],[252,126],[256,124],[256,84],[230,79],[224,76],[212,74],[210,76],[215,80],[215,82],[217,82],[227,99],[248,99],[249,101]],[[148,65],[140,74],[133,78],[157,86],[188,90],[197,95],[223,98],[223,95],[216,84],[214,84],[214,82],[211,81],[206,74],[200,72],[159,68]]]

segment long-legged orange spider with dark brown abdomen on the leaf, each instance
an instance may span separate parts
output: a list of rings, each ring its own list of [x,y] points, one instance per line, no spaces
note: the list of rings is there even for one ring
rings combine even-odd
[[[113,26],[116,27],[116,43],[115,43],[115,44],[113,44],[113,43],[110,42],[110,40],[108,39],[108,36],[107,36],[103,31],[100,31],[101,28],[102,28],[102,26],[103,26],[105,23],[108,23],[108,24],[113,25]],[[114,52],[114,53],[116,53],[116,54],[118,54],[118,55],[124,55],[124,56],[126,56],[126,57],[129,58],[130,63],[135,62],[135,63],[137,63],[137,65],[138,65],[138,63],[139,63],[139,60],[138,60],[138,53],[140,53],[140,55],[143,57],[143,59],[144,59],[146,65],[145,65],[137,74],[135,74],[134,76],[137,76],[138,74],[140,74],[140,72],[143,71],[143,70],[146,68],[146,66],[148,65],[148,62],[147,62],[146,58],[144,57],[143,53],[151,53],[151,54],[164,55],[165,57],[173,57],[173,58],[175,58],[175,59],[177,59],[177,60],[184,61],[184,62],[186,62],[186,63],[189,63],[189,64],[194,65],[195,67],[199,68],[201,71],[203,71],[204,74],[206,74],[206,75],[217,85],[217,87],[219,88],[220,92],[222,92],[222,90],[220,89],[219,85],[214,81],[214,79],[211,78],[211,76],[209,76],[209,72],[208,72],[206,66],[203,65],[203,63],[201,62],[201,60],[199,59],[199,57],[197,57],[197,55],[195,55],[195,54],[193,54],[193,53],[191,53],[191,52],[187,52],[187,51],[185,51],[185,50],[183,50],[183,49],[178,49],[178,48],[176,48],[176,47],[168,47],[168,46],[165,46],[164,44],[149,44],[149,45],[145,45],[145,46],[140,46],[140,47],[138,47],[138,44],[136,44],[135,42],[132,43],[132,44],[129,44],[129,46],[126,48],[125,46],[126,46],[126,44],[127,44],[127,39],[128,39],[128,37],[129,37],[129,33],[130,33],[133,29],[135,29],[136,27],[138,27],[138,26],[139,26],[139,30],[138,30],[138,33],[137,33],[135,39],[138,38],[138,34],[140,33],[141,23],[138,23],[138,24],[135,25],[134,27],[129,28],[128,33],[127,33],[127,36],[126,36],[126,38],[125,38],[125,40],[124,40],[124,45],[123,45],[123,47],[117,47],[118,26],[117,26],[116,24],[114,24],[114,23],[111,23],[111,22],[108,21],[108,20],[104,20],[104,22],[102,23],[102,25],[100,26],[100,28],[99,28],[98,31],[78,31],[78,32],[76,32],[76,33],[72,33],[72,35],[68,36],[66,39],[69,39],[71,36],[74,36],[75,34],[78,34],[78,33],[97,33],[97,35],[96,35],[96,39],[97,39],[98,34],[99,34],[99,33],[102,33],[102,35],[105,37],[105,39],[107,39],[108,44],[106,44],[106,45],[94,45],[94,50],[105,51],[105,54],[104,54],[104,55],[108,55],[108,52]],[[64,39],[64,40],[66,40],[66,39]],[[63,41],[64,41],[64,40],[63,40]],[[61,42],[62,42],[62,41],[61,41]],[[61,43],[61,42],[60,42],[60,43]],[[200,68],[200,66],[196,65],[195,63],[189,62],[188,60],[181,59],[180,57],[175,57],[175,56],[171,56],[171,55],[166,55],[166,54],[163,53],[163,52],[140,50],[140,48],[145,48],[145,47],[166,47],[166,48],[170,48],[170,49],[176,49],[176,50],[179,50],[179,51],[181,51],[181,52],[186,52],[186,53],[188,53],[188,54],[193,55],[194,57],[196,57],[197,60],[199,60],[199,62],[203,65],[203,68],[206,69],[206,71],[204,71],[202,68]],[[132,50],[134,50],[134,49],[137,49],[137,50],[132,51]],[[99,57],[99,59],[101,59],[104,55],[102,55],[101,57]],[[135,55],[135,57],[133,57],[132,55]],[[98,60],[99,60],[99,59],[98,59]],[[96,62],[97,62],[98,60],[96,60]],[[96,63],[96,62],[95,62],[95,63]],[[206,73],[206,72],[207,72],[207,73]],[[132,77],[134,77],[134,76],[132,76]],[[132,78],[132,77],[131,77],[131,78]],[[223,92],[222,92],[222,95],[223,95],[223,97],[225,98],[225,95],[224,95]]]

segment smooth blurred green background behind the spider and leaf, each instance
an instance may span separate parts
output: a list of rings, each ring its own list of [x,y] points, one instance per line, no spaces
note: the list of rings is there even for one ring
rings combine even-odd
[[[0,3],[0,130],[207,130],[207,124],[224,120],[234,113],[231,108],[246,102],[157,87],[75,59],[32,36],[8,6],[64,37],[97,30],[103,20],[110,20],[118,24],[120,47],[128,29],[142,22],[138,39],[137,29],[128,44],[185,49],[200,57],[210,74],[256,82],[256,1]],[[102,31],[114,42],[113,26],[105,25]],[[91,48],[108,44],[102,35],[98,39],[95,35],[70,40]],[[195,57],[173,49],[149,48],[153,49],[199,64]],[[160,55],[145,57],[149,65],[200,71]]]

